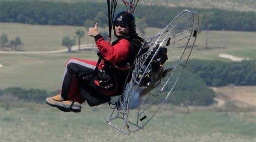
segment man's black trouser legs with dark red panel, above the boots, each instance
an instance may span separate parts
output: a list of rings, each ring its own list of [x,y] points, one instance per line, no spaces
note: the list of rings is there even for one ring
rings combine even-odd
[[[94,72],[93,69],[86,65],[79,63],[68,63],[67,71],[64,74],[61,96],[64,100],[70,98],[72,95],[82,95],[90,107],[98,106],[110,100],[96,86],[94,79],[100,72]]]

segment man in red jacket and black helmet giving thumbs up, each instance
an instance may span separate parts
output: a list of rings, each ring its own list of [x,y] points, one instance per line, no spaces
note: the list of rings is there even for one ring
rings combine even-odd
[[[98,23],[88,29],[88,35],[95,38],[99,49],[99,61],[70,58],[66,62],[62,90],[58,95],[46,98],[48,105],[64,112],[80,112],[85,100],[93,107],[122,93],[143,39],[137,36],[135,18],[131,13],[119,12],[113,23],[114,35],[118,39],[112,44],[99,34]]]

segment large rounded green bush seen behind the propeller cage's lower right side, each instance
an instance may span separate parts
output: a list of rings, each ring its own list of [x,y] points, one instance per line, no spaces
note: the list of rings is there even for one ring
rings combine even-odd
[[[167,63],[167,62],[166,62]],[[162,94],[167,94],[173,87],[175,76],[178,74],[180,69],[176,69],[171,80],[166,85]],[[159,87],[158,87],[159,88]],[[152,94],[157,94],[157,90],[154,89]],[[198,74],[189,72],[188,70],[183,70],[178,82],[176,83],[173,91],[166,100],[166,103],[171,103],[174,105],[188,106],[208,106],[211,105],[216,97],[215,92],[206,85],[204,80],[202,80]],[[160,98],[161,97],[160,95]],[[154,99],[148,97],[146,102]],[[162,103],[160,100],[154,102],[155,104]]]

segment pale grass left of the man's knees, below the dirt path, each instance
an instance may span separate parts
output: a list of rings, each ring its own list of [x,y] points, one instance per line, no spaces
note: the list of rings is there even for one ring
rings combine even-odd
[[[8,87],[36,88],[53,91],[61,89],[65,62],[70,57],[97,61],[96,52],[47,55],[0,55],[0,89]]]

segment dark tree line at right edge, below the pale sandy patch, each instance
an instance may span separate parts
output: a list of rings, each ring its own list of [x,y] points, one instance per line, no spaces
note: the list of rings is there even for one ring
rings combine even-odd
[[[256,60],[241,62],[191,60],[187,69],[199,75],[208,86],[256,85]]]

